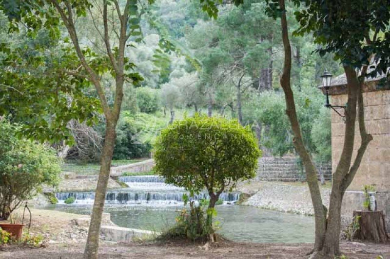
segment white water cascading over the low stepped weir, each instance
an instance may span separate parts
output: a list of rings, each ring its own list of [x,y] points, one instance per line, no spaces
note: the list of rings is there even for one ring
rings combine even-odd
[[[164,183],[164,178],[158,175],[123,176],[119,180],[125,182],[129,188],[109,190],[106,195],[108,204],[161,204],[176,205],[183,202],[183,194],[188,194],[182,188]],[[92,204],[95,192],[58,192],[56,197],[60,204],[69,197],[75,197],[77,204]],[[238,200],[239,193],[223,192],[220,195],[226,203]],[[195,195],[195,200],[209,199],[205,192]]]

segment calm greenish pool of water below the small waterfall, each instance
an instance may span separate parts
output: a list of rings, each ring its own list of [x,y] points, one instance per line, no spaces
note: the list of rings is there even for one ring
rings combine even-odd
[[[91,205],[45,207],[71,213],[89,214]],[[105,206],[111,220],[123,227],[161,231],[175,224],[177,210],[182,207]],[[234,241],[248,242],[313,242],[314,219],[249,206],[221,205],[216,207],[219,233]]]

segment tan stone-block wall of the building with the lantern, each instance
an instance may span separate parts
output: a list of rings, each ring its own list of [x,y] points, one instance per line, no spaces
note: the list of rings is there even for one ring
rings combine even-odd
[[[345,105],[346,94],[333,95],[333,105]],[[349,190],[362,190],[366,184],[374,184],[378,191],[390,190],[390,90],[378,90],[363,93],[364,113],[367,132],[373,137],[359,170]],[[341,110],[341,112],[343,112]],[[334,111],[331,115],[332,130],[332,168],[335,170],[344,144],[345,123]],[[359,127],[355,127],[355,157],[360,146]]]

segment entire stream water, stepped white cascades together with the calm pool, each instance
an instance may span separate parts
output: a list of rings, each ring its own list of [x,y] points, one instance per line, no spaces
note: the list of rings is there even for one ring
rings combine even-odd
[[[156,175],[125,176],[120,180],[129,188],[109,190],[104,207],[115,224],[158,232],[175,224],[178,210],[183,208],[185,190],[165,184]],[[90,214],[95,193],[59,192],[56,196],[59,204],[45,208]],[[71,196],[75,203],[64,204]],[[313,217],[234,205],[238,197],[237,192],[222,193],[224,205],[216,207],[218,232],[226,238],[246,242],[313,242]],[[199,193],[195,197],[202,198],[207,199],[208,195]]]

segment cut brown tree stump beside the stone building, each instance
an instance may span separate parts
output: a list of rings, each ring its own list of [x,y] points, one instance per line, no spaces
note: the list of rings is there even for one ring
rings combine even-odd
[[[353,216],[360,216],[358,221],[360,227],[356,230],[352,239],[367,240],[376,243],[389,241],[389,236],[386,232],[385,217],[382,210],[354,210]]]

